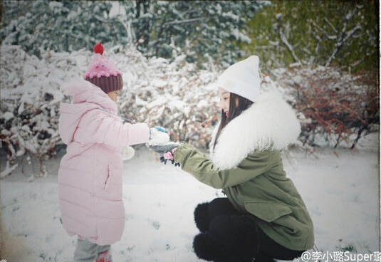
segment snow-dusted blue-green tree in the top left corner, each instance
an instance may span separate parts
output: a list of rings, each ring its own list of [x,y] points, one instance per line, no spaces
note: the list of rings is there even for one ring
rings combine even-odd
[[[91,50],[94,43],[120,42],[118,24],[110,19],[110,1],[1,1],[2,43],[19,45],[29,55],[41,50]],[[24,6],[24,8],[21,8]],[[114,43],[110,46],[113,46]]]

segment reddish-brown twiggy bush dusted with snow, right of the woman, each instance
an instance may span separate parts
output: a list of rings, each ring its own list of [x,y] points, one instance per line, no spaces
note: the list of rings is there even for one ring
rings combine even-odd
[[[360,137],[379,130],[377,75],[298,65],[272,73],[298,112],[303,145],[354,148]]]

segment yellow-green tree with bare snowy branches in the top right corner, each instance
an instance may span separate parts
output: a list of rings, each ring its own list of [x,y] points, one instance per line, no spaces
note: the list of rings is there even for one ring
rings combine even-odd
[[[357,70],[377,66],[375,1],[271,1],[250,21],[253,45],[268,68],[308,63]]]

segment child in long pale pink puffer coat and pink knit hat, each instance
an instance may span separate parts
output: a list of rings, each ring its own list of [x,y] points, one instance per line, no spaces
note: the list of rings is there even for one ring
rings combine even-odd
[[[78,235],[74,261],[111,262],[110,245],[125,226],[123,148],[165,143],[169,136],[144,123],[122,122],[115,103],[122,73],[100,43],[94,51],[84,80],[62,87],[73,103],[61,104],[59,132],[67,152],[58,170],[58,197],[63,228]]]

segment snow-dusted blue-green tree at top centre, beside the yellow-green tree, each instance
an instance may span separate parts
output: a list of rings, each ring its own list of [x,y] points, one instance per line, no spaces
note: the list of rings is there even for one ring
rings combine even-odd
[[[126,6],[132,3],[124,2]],[[237,43],[250,43],[247,22],[266,1],[136,1],[132,20],[142,53],[163,58],[187,55],[205,62],[208,54],[229,66],[244,53]]]

